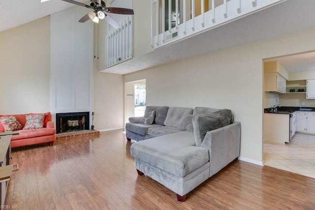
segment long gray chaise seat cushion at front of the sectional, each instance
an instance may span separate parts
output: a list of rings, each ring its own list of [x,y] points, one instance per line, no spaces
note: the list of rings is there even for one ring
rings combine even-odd
[[[193,133],[182,131],[131,145],[131,155],[161,170],[185,177],[209,161],[209,150],[195,147]]]

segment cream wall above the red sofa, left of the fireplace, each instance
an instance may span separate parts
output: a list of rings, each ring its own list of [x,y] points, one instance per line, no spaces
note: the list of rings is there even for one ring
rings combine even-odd
[[[0,114],[50,111],[50,17],[0,32]]]

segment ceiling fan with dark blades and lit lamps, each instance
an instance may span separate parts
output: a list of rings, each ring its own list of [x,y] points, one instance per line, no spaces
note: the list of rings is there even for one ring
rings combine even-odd
[[[92,20],[95,23],[98,23],[99,19],[105,19],[111,26],[115,29],[120,28],[120,25],[108,15],[108,13],[123,14],[123,15],[133,15],[132,9],[119,8],[119,7],[106,7],[106,4],[102,0],[90,0],[90,5],[75,1],[75,0],[63,0],[69,3],[73,3],[79,6],[84,6],[86,8],[93,9],[85,16],[83,16],[79,22],[84,23],[88,20]]]

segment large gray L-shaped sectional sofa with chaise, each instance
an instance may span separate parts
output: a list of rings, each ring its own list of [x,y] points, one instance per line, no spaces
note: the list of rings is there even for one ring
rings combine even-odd
[[[130,152],[138,174],[185,201],[187,193],[239,156],[241,123],[233,120],[227,109],[146,107],[144,117],[126,123],[126,138],[137,141]]]

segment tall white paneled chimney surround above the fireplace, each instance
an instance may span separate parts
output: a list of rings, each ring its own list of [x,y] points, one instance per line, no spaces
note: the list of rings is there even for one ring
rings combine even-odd
[[[93,112],[93,22],[78,23],[86,8],[74,6],[52,14],[50,110],[56,113]],[[56,124],[56,122],[55,122]]]

